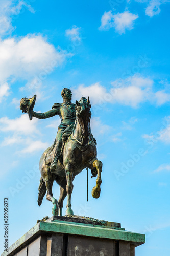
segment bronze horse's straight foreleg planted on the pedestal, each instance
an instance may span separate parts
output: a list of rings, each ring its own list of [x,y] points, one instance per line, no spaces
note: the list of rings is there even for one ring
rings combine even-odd
[[[69,167],[67,167],[65,169],[66,172],[66,180],[67,180],[67,210],[66,210],[66,215],[73,215],[73,211],[71,209],[71,194],[72,194],[72,189],[73,189],[73,184],[72,184],[72,176],[73,176],[73,171],[72,169]]]

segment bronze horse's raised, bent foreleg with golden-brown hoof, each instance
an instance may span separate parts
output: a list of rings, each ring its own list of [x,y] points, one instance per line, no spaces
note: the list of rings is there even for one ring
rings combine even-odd
[[[98,177],[96,179],[96,185],[95,187],[93,187],[91,194],[93,198],[99,198],[101,193],[101,183],[102,183],[102,179],[101,179],[102,162],[96,159],[93,162],[93,167],[95,167],[96,170],[98,171]]]

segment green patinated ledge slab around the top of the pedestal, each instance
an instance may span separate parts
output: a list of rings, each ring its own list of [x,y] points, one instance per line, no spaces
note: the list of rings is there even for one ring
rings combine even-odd
[[[135,246],[145,243],[145,235],[133,233],[123,230],[122,228],[107,228],[84,223],[72,223],[66,221],[39,222],[30,229],[24,236],[17,240],[8,249],[8,252],[3,252],[2,256],[7,256],[20,246],[25,247],[32,240],[44,232],[55,232],[63,234],[73,234],[77,236],[88,236],[95,238],[105,238],[119,241],[132,242]]]

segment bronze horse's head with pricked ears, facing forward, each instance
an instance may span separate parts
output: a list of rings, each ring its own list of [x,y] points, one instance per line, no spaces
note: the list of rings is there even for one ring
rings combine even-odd
[[[90,132],[90,118],[91,118],[91,105],[89,97],[86,99],[82,97],[79,102],[76,100],[76,116],[82,129],[83,138],[89,136]]]

